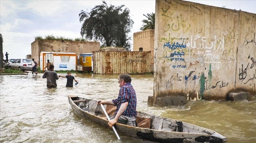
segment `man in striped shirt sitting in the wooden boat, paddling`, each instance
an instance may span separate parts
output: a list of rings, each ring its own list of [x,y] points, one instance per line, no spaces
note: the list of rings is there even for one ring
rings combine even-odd
[[[122,123],[131,126],[137,126],[135,122],[137,117],[136,105],[137,98],[135,90],[133,89],[130,75],[120,74],[118,76],[119,94],[118,97],[112,101],[99,100],[98,104],[114,105],[117,107],[114,116],[109,116],[110,121],[108,125],[112,128],[115,123]]]

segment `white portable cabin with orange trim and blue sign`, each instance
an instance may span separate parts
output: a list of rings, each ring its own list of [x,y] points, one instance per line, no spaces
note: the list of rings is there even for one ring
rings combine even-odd
[[[54,70],[76,70],[77,54],[75,53],[58,53],[58,52],[41,52],[40,69],[44,69],[49,60],[54,65]]]

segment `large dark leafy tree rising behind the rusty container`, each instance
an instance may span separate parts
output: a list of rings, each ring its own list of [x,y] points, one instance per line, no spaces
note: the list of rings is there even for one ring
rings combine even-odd
[[[91,12],[81,11],[79,21],[81,26],[81,36],[86,39],[99,40],[103,46],[124,47],[130,50],[130,37],[128,33],[133,25],[130,19],[128,8],[106,4],[97,5]]]

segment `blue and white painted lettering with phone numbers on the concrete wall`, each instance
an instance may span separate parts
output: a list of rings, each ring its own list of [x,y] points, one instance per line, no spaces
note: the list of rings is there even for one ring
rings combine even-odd
[[[227,58],[231,51],[225,50],[226,35],[227,32],[221,33],[221,36],[215,35],[213,41],[201,35],[191,35],[191,38],[161,38],[162,41],[176,41],[163,43],[164,50],[159,59],[171,61],[172,68],[189,68],[194,63],[200,63],[201,66],[212,63],[212,69],[219,70],[221,58],[227,62],[233,60],[233,57]]]

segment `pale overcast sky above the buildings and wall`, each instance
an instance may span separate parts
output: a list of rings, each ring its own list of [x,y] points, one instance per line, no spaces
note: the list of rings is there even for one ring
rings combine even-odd
[[[229,9],[256,13],[256,0],[188,0],[200,4],[217,7],[226,6]],[[129,34],[139,32],[142,26],[143,14],[155,12],[154,0],[106,0],[107,4],[125,5],[129,8],[134,21]],[[65,38],[80,38],[81,10],[89,12],[102,1],[89,0],[52,0],[52,1],[0,1],[0,33],[4,38],[3,52],[8,52],[8,59],[25,58],[31,54],[31,43],[36,36],[54,35]],[[133,44],[133,41],[131,41]],[[5,59],[5,56],[4,56]]]

